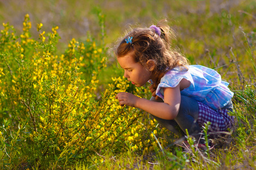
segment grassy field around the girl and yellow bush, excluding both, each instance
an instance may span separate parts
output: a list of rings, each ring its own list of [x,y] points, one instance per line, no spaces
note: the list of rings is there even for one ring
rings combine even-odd
[[[119,153],[97,152],[100,163],[77,162],[67,169],[256,169],[256,2],[255,1],[0,1],[0,19],[9,22],[22,32],[25,14],[30,14],[32,25],[43,23],[46,32],[59,26],[61,37],[57,53],[63,53],[68,41],[75,38],[86,41],[88,37],[109,48],[108,67],[100,74],[103,91],[112,76],[121,76],[122,70],[111,48],[128,24],[150,26],[156,20],[167,18],[177,33],[176,44],[192,64],[216,69],[222,79],[230,83],[236,122],[232,134],[217,139],[213,150],[196,148],[184,152],[173,145],[168,131],[155,135],[154,150],[134,151],[132,145],[123,143]],[[102,41],[101,24],[95,15],[104,15],[105,35]],[[0,29],[3,29],[2,25]],[[32,27],[32,37],[38,37]],[[147,116],[144,119],[149,118]],[[138,124],[142,121],[138,120]],[[7,122],[0,121],[1,124]],[[22,129],[22,128],[21,128]],[[156,126],[155,129],[159,130]],[[18,133],[13,138],[18,138]],[[139,134],[143,135],[143,134]],[[171,136],[172,137],[172,136]],[[146,137],[144,137],[146,138]],[[162,146],[158,140],[166,138]],[[192,140],[192,139],[191,139]],[[10,145],[15,145],[11,143]],[[191,141],[193,145],[193,141]],[[29,155],[30,145],[24,147],[22,158],[13,156],[13,169],[61,169],[36,165]],[[110,148],[109,148],[110,149]],[[143,150],[144,149],[144,150]],[[111,150],[111,149],[110,149]],[[15,155],[13,149],[7,153]],[[2,152],[1,152],[2,153]],[[3,152],[4,153],[4,152]],[[20,153],[19,153],[20,154]],[[22,153],[20,154],[22,155]],[[1,158],[2,155],[0,155]],[[47,160],[47,159],[46,159]],[[7,169],[7,168],[6,168]]]

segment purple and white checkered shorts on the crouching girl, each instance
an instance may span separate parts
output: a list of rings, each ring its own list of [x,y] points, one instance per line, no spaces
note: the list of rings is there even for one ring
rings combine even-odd
[[[234,123],[234,116],[229,116],[228,109],[213,110],[207,105],[197,102],[199,104],[199,126],[204,126],[204,123],[210,122],[208,132],[226,131],[231,128]]]

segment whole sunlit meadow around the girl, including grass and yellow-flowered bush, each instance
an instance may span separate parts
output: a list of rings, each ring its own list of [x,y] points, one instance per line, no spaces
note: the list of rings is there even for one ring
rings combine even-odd
[[[0,1],[0,169],[256,169],[256,2]],[[201,151],[118,92],[113,48],[129,27],[166,18],[191,64],[234,92],[235,124]],[[207,125],[204,133],[207,134]],[[208,137],[208,135],[206,135]]]

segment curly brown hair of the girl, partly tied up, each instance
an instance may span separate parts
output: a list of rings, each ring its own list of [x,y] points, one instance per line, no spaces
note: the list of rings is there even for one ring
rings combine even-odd
[[[180,54],[171,43],[176,39],[174,31],[163,19],[156,25],[161,30],[160,36],[152,28],[134,28],[121,40],[115,49],[117,57],[123,57],[131,53],[134,61],[146,66],[148,60],[155,62],[155,69],[152,71],[154,82],[153,88],[160,83],[160,79],[167,71],[176,66],[187,69],[188,60]],[[126,43],[127,37],[133,37],[131,43]]]

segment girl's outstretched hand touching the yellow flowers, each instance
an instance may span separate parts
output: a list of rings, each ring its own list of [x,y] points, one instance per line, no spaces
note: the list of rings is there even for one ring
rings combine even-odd
[[[115,96],[115,99],[118,99],[121,106],[129,105],[130,107],[136,107],[136,103],[140,98],[127,92],[120,92]]]

